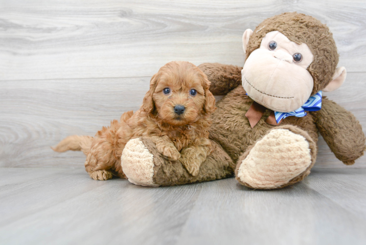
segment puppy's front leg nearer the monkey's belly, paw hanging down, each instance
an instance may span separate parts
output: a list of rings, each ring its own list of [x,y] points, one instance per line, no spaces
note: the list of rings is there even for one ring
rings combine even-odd
[[[180,161],[192,176],[196,176],[200,171],[201,164],[206,160],[211,150],[211,142],[208,139],[202,139],[199,143],[184,148]]]

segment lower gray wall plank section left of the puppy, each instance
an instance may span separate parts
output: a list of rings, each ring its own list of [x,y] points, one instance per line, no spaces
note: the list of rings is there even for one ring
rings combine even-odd
[[[0,82],[0,166],[83,165],[80,152],[54,154],[68,135],[95,135],[102,126],[137,110],[149,77]]]

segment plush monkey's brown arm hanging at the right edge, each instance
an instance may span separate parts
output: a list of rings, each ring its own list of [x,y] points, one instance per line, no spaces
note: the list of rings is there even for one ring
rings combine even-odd
[[[325,142],[345,165],[354,164],[357,158],[364,155],[365,135],[351,112],[323,97],[320,111],[310,114]]]

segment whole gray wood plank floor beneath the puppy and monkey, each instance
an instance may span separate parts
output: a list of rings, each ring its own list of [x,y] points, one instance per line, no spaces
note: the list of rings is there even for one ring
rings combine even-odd
[[[366,243],[366,169],[253,191],[228,178],[149,188],[75,169],[0,168],[0,244]]]

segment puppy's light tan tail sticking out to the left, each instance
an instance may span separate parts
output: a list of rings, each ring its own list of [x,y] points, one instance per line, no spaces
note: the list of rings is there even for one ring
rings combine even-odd
[[[56,147],[51,147],[54,151],[64,152],[67,150],[81,150],[86,155],[92,146],[93,137],[83,135],[72,135],[63,139]]]

